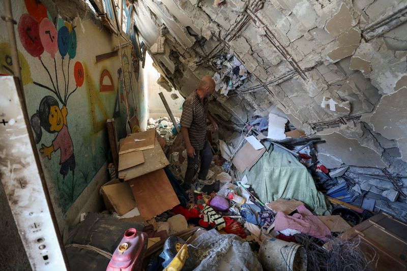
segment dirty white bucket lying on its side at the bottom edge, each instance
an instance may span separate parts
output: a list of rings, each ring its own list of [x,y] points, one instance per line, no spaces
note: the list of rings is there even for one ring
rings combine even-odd
[[[271,238],[261,243],[259,260],[264,270],[306,271],[307,253],[296,243]]]

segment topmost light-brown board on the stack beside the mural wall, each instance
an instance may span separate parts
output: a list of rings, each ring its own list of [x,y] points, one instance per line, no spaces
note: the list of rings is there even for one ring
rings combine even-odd
[[[135,152],[136,150],[145,150],[154,147],[156,138],[156,130],[151,129],[146,132],[130,134],[126,138],[120,140],[119,155]],[[142,141],[134,141],[142,140]]]

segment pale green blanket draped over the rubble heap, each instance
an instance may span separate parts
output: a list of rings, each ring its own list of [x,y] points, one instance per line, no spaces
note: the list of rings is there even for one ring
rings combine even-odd
[[[265,142],[267,149],[270,144]],[[240,174],[240,179],[244,174],[249,180],[248,184],[264,203],[290,198],[304,202],[307,208],[318,214],[331,209],[324,194],[316,190],[308,169],[278,146],[271,146],[249,171]]]

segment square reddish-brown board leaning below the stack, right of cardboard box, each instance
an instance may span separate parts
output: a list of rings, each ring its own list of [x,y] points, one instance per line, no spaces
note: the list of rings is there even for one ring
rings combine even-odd
[[[164,169],[133,178],[129,184],[138,210],[146,220],[180,204]]]

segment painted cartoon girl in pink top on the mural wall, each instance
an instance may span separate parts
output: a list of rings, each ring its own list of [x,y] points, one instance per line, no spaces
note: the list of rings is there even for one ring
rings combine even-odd
[[[73,174],[75,169],[75,155],[73,153],[71,135],[68,131],[67,115],[68,109],[65,105],[60,109],[59,103],[55,98],[45,96],[41,100],[37,112],[31,116],[31,126],[35,133],[37,144],[41,141],[42,137],[41,127],[50,134],[57,133],[50,146],[41,144],[40,153],[42,153],[43,157],[48,157],[50,160],[52,152],[56,152],[57,149],[61,150],[60,173],[64,178],[69,170]]]

